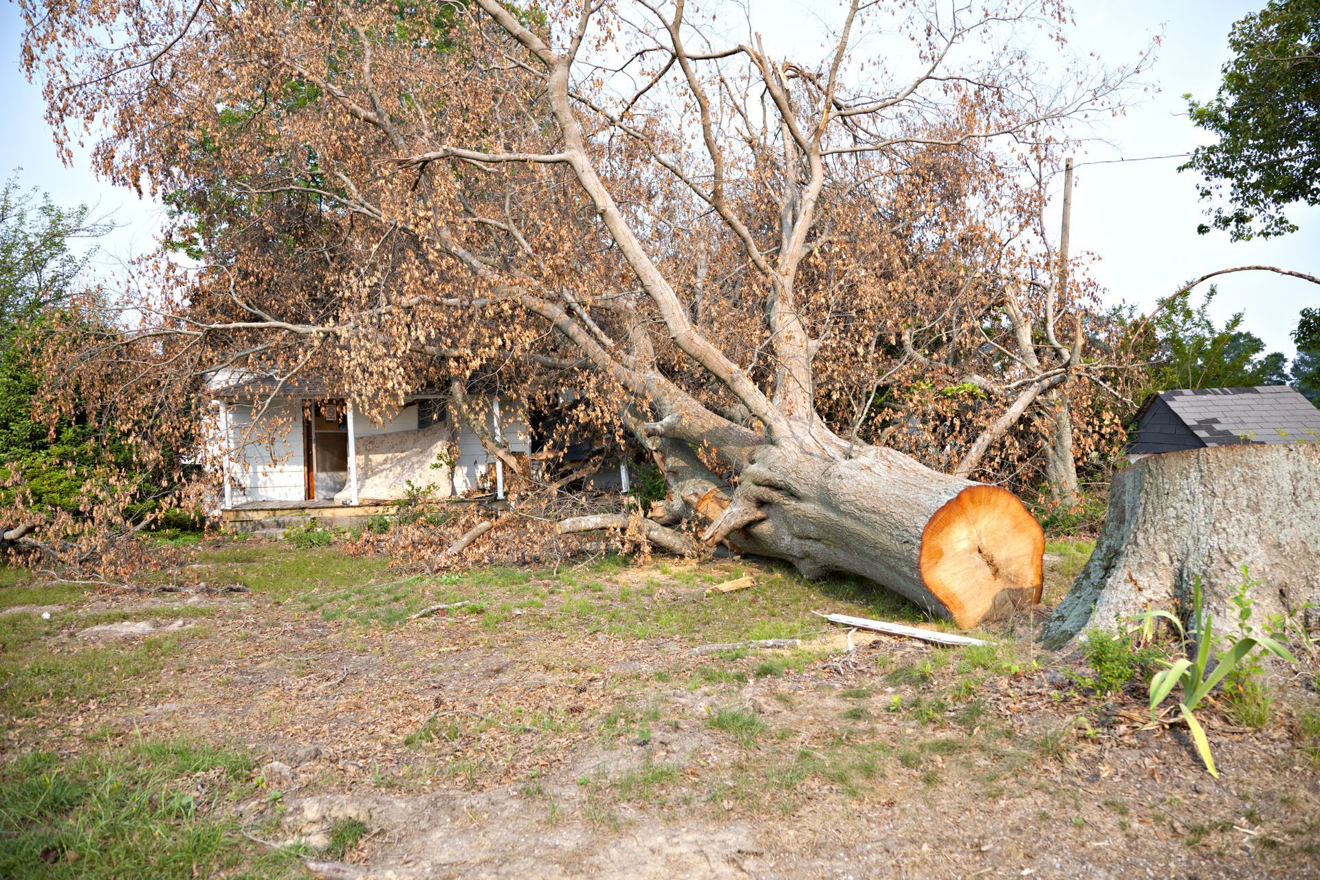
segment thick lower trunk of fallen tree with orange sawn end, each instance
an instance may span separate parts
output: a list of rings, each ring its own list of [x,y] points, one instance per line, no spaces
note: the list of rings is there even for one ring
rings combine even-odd
[[[807,442],[760,446],[730,495],[686,443],[648,446],[669,478],[669,513],[709,522],[708,541],[787,559],[813,578],[859,575],[960,627],[1040,600],[1044,534],[1007,489],[890,449],[847,458],[840,441],[837,455]]]

